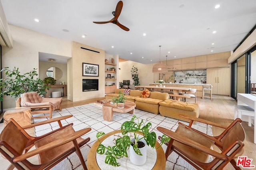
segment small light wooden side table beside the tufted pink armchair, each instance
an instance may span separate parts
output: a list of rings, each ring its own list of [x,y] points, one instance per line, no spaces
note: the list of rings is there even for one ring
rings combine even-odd
[[[7,124],[7,119],[14,119],[21,127],[31,125],[31,109],[30,107],[19,107],[4,112],[4,127]]]

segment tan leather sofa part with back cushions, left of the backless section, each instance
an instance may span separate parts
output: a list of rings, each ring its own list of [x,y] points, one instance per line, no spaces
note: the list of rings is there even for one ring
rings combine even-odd
[[[116,89],[115,93],[106,94],[105,99],[111,100],[113,97],[117,97],[119,91],[124,92],[124,89]],[[148,98],[141,98],[141,94],[141,90],[130,90],[130,94],[126,95],[126,100],[135,102],[136,109],[154,114],[159,114],[159,103],[169,98],[168,93],[150,92]]]

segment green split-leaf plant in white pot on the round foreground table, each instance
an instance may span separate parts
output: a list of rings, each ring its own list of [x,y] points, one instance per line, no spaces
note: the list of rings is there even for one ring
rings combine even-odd
[[[118,138],[115,140],[114,146],[104,146],[100,142],[99,138],[105,135],[104,132],[98,132],[96,137],[100,142],[98,146],[97,153],[98,154],[106,154],[105,163],[110,164],[112,166],[120,166],[120,164],[116,161],[116,159],[128,157],[127,150],[131,146],[131,139],[128,133],[133,133],[135,141],[132,149],[136,152],[136,154],[142,155],[140,149],[138,148],[138,142],[144,139],[146,141],[146,145],[154,148],[156,145],[156,133],[150,132],[150,128],[152,127],[152,123],[148,122],[146,125],[143,119],[139,120],[136,115],[132,117],[130,121],[125,121],[121,125],[121,133],[122,136],[118,135]],[[141,134],[141,135],[140,135]],[[170,137],[166,135],[162,135],[160,145],[170,141]],[[158,148],[156,148],[158,149]]]

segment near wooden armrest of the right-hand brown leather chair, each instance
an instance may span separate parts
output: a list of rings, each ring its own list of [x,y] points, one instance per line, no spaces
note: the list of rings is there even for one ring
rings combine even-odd
[[[192,141],[191,139],[188,139],[185,136],[179,135],[178,133],[175,133],[173,131],[170,131],[164,127],[157,127],[156,129],[158,129],[158,131],[164,133],[165,135],[171,137],[171,139],[174,139],[175,141],[178,141],[184,145],[187,145],[189,147],[192,147],[194,149],[200,150],[202,152],[205,152],[207,154],[210,154],[218,159],[221,160],[227,160],[227,157],[223,154],[220,154],[219,152],[216,152],[212,149],[209,149],[207,147],[205,147],[204,145],[201,145],[195,141]]]

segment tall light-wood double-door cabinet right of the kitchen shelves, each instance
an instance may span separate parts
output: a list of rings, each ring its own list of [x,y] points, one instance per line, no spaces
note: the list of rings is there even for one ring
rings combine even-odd
[[[207,84],[212,84],[212,94],[230,96],[230,68],[208,68],[206,70]],[[209,92],[207,92],[209,93]]]

